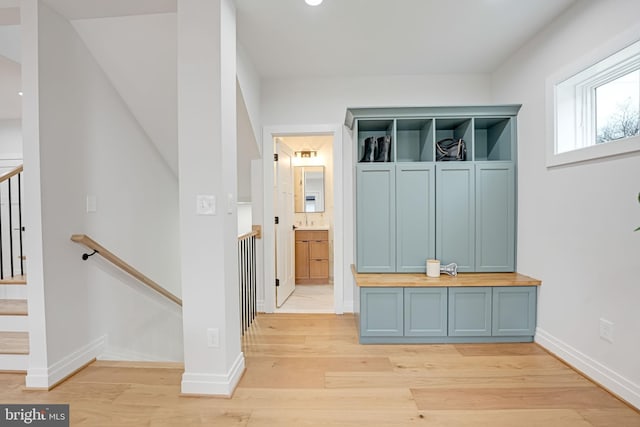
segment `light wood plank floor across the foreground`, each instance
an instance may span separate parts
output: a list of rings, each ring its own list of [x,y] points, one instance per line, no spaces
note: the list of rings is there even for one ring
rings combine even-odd
[[[0,375],[2,403],[70,403],[78,426],[640,426],[536,344],[359,345],[354,318],[259,315],[231,399],[180,397],[182,369],[96,362],[50,392]]]

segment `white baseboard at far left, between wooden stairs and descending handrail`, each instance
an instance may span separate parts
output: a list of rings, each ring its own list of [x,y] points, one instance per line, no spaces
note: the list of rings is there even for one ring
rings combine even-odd
[[[106,336],[74,351],[62,360],[45,368],[29,367],[27,370],[27,388],[50,388],[78,369],[97,359],[104,349]]]

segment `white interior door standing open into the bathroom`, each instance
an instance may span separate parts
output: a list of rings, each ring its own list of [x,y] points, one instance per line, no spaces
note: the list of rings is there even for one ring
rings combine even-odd
[[[295,289],[293,235],[293,153],[276,139],[276,306],[281,307]]]

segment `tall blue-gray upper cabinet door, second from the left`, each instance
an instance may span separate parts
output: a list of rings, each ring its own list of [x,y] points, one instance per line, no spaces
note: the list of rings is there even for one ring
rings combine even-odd
[[[436,255],[433,163],[396,164],[396,271],[425,272]]]

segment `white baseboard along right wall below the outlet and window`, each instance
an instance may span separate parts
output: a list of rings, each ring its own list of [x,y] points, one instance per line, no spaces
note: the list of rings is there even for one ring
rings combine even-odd
[[[640,385],[629,381],[543,329],[536,329],[535,342],[627,403],[640,409]]]

